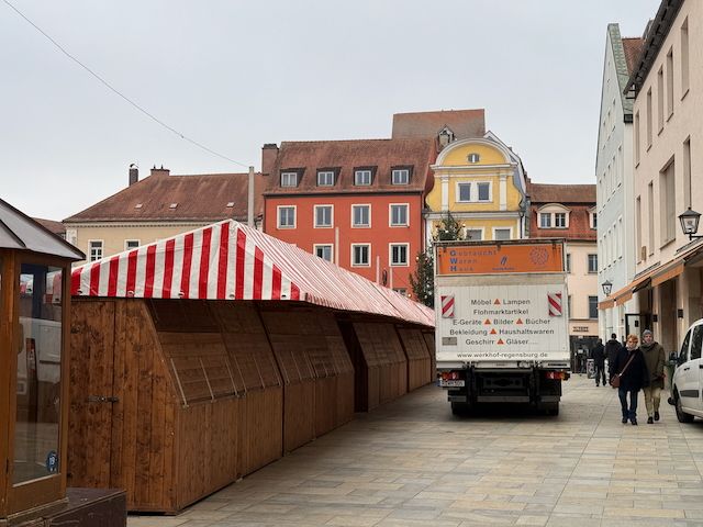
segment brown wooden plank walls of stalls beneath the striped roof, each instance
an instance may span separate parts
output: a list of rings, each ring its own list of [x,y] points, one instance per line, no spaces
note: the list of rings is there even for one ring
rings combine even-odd
[[[337,322],[309,306],[75,299],[69,484],[175,513],[350,421],[357,375],[364,410],[405,393],[394,326],[347,323],[343,336]]]

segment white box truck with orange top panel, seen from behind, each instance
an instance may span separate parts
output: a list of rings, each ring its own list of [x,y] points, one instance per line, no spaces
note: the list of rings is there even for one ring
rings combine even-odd
[[[563,240],[435,245],[437,377],[451,411],[527,403],[557,415],[569,378]]]

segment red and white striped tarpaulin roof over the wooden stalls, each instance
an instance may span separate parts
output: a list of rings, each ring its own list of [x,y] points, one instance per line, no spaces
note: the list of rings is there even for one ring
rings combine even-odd
[[[232,220],[77,267],[71,294],[293,300],[434,326],[428,307]]]

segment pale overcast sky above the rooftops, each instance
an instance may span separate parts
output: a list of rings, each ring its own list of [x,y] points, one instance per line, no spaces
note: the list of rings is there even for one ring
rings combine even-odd
[[[69,54],[158,120],[140,113]],[[595,182],[606,26],[659,0],[0,0],[0,198],[63,220],[136,162],[260,169],[264,143],[389,137],[392,114],[486,109],[534,181]]]

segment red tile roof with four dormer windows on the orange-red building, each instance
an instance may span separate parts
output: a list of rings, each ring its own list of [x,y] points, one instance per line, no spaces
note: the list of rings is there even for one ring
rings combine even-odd
[[[266,194],[338,192],[422,192],[436,158],[434,139],[359,139],[281,143]],[[356,168],[371,168],[368,187],[354,186]],[[391,184],[393,168],[410,168],[409,184]],[[335,184],[317,187],[317,171],[335,172]],[[298,171],[298,187],[281,187],[280,173]]]

